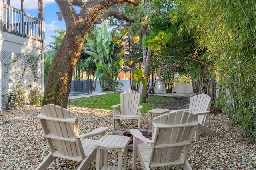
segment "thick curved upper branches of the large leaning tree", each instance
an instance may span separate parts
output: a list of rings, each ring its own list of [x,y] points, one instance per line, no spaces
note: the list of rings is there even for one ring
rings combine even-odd
[[[77,27],[80,32],[86,32],[92,23],[101,24],[106,18],[113,16],[118,20],[134,22],[134,18],[128,18],[120,10],[120,3],[127,2],[134,6],[140,4],[140,0],[55,0],[66,23],[66,30]],[[118,4],[116,11],[108,11],[98,17],[106,8]],[[80,13],[77,14],[74,6],[80,6]],[[97,18],[98,17],[98,18]],[[128,24],[122,24],[123,26]]]

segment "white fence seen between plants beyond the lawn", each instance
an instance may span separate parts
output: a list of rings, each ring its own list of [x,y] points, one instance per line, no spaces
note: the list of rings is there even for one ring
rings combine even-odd
[[[123,87],[121,87],[120,91],[127,91],[128,89],[131,89],[130,80],[119,80],[119,81],[124,85]],[[99,81],[97,81],[95,91],[101,91]],[[139,92],[142,93],[142,84],[139,87]],[[164,83],[162,81],[159,81],[159,79],[156,80],[155,93],[166,93]],[[175,83],[172,89],[172,93],[193,93],[192,82],[190,81],[190,83],[184,83],[184,82]]]

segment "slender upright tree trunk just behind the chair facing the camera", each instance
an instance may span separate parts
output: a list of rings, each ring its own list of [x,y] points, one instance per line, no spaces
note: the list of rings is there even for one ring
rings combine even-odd
[[[149,75],[150,60],[151,60],[151,46],[148,47],[148,53],[147,53],[146,65],[145,65],[145,78],[147,82],[148,82],[148,75]],[[142,99],[141,99],[142,103],[146,103],[147,96],[148,96],[148,86],[143,85]]]

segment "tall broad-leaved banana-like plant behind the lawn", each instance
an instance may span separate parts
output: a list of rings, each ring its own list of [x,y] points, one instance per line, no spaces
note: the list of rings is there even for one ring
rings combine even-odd
[[[116,43],[112,43],[112,36],[107,31],[105,24],[97,36],[95,47],[90,47],[90,51],[84,51],[92,56],[87,62],[93,60],[96,64],[96,76],[100,79],[102,91],[114,91],[120,89],[122,83],[117,81],[120,72],[120,55],[115,51]]]

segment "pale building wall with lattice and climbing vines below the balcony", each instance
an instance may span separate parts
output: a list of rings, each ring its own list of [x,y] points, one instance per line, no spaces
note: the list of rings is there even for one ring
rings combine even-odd
[[[7,104],[7,94],[30,86],[44,90],[43,42],[0,31],[0,104]],[[34,62],[35,61],[35,62]],[[28,101],[29,102],[29,101]]]

